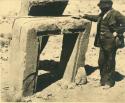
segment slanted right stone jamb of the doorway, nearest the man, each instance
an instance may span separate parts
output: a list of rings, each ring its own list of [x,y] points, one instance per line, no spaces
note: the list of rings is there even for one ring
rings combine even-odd
[[[72,51],[72,54],[70,56],[69,62],[67,63],[65,73],[64,73],[63,78],[69,82],[75,82],[75,78],[77,78],[77,76],[79,75],[77,73],[78,68],[80,68],[80,67],[84,68],[85,54],[86,54],[86,51],[88,48],[91,23],[87,23],[84,26],[85,26],[85,32],[79,34],[77,41],[75,43],[74,49]],[[66,48],[66,49],[68,49],[68,48]],[[76,75],[76,74],[78,74],[78,75]],[[83,78],[85,78],[85,80],[86,80],[85,71],[83,74]],[[80,81],[80,80],[78,80],[78,78],[77,78],[76,81]]]

